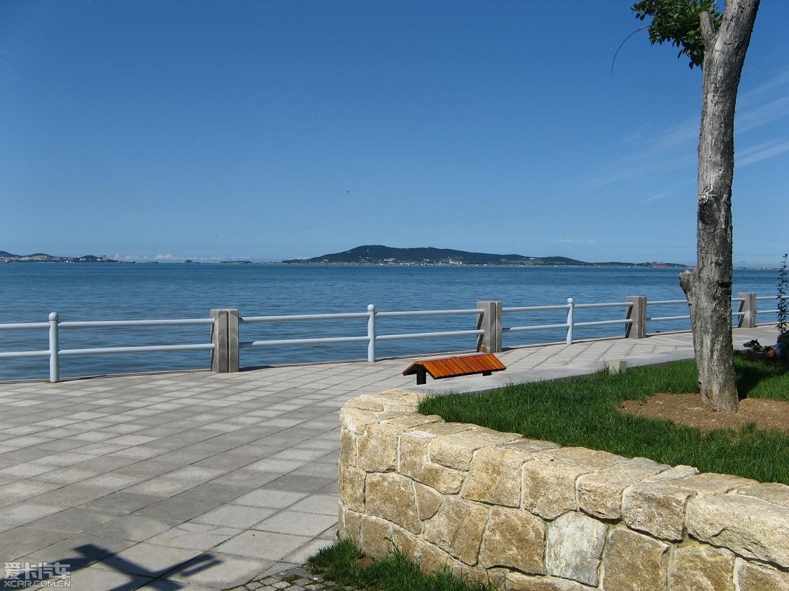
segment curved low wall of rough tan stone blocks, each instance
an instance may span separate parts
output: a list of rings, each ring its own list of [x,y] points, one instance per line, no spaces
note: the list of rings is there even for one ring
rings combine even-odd
[[[417,413],[341,411],[340,537],[521,591],[789,591],[789,487]]]

